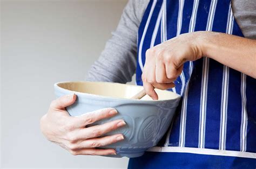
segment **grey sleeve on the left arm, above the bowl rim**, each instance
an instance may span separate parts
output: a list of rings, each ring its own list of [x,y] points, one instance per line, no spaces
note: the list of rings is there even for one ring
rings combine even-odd
[[[147,3],[147,0],[130,0],[126,4],[116,31],[91,66],[86,81],[131,81],[136,71],[137,32]]]

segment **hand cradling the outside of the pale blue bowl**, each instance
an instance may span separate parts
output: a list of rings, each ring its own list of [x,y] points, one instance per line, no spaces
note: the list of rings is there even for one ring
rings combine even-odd
[[[44,136],[73,155],[109,155],[116,154],[114,149],[96,149],[96,147],[116,143],[124,139],[120,134],[100,137],[124,126],[123,119],[117,119],[101,125],[85,127],[103,118],[117,114],[113,108],[101,109],[72,117],[65,107],[76,101],[76,95],[65,95],[51,102],[48,112],[41,118],[41,131]]]

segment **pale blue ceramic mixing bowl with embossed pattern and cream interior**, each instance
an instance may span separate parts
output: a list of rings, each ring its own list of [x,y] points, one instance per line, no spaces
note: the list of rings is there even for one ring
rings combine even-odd
[[[115,149],[117,155],[110,157],[139,157],[152,146],[157,145],[170,126],[180,95],[167,90],[156,92],[159,100],[149,96],[141,100],[130,99],[143,89],[142,86],[109,82],[60,82],[54,85],[57,97],[75,93],[76,102],[67,107],[71,116],[103,108],[115,108],[116,116],[102,119],[93,125],[124,119],[126,125],[103,136],[123,133],[125,139],[101,148]]]

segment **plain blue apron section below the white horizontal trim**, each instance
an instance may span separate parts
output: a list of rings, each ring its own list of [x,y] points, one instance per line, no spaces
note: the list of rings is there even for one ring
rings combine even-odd
[[[157,163],[156,163],[157,161]],[[255,168],[256,159],[177,152],[145,152],[130,158],[128,168]]]

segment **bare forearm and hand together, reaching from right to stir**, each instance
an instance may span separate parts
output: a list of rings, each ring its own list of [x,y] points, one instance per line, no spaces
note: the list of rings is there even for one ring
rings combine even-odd
[[[203,56],[256,78],[256,40],[217,32],[192,32],[147,50],[143,86],[157,99],[153,88],[167,89],[178,78],[186,61]]]

